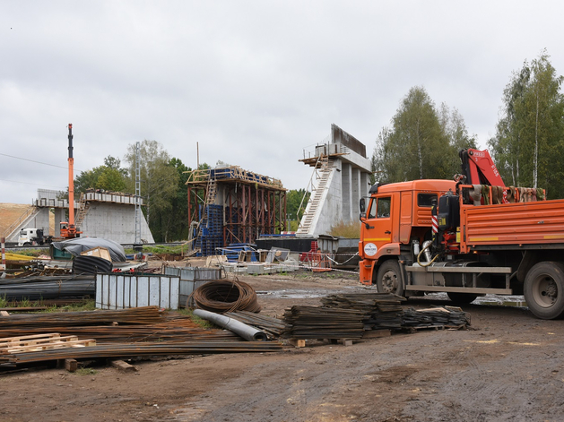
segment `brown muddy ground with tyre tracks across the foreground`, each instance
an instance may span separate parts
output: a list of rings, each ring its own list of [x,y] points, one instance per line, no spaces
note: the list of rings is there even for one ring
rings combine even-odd
[[[362,291],[356,276],[244,277],[263,313]],[[303,290],[296,294],[296,290]],[[298,296],[298,297],[295,297]],[[410,300],[415,308],[447,300]],[[526,308],[463,306],[473,330],[421,331],[345,347],[136,362],[123,373],[0,376],[1,421],[561,421],[564,323]]]

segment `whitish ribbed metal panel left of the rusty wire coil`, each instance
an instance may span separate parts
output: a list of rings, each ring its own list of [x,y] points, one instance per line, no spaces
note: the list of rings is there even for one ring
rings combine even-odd
[[[96,307],[124,309],[137,306],[159,306],[178,309],[180,279],[162,274],[96,276]]]

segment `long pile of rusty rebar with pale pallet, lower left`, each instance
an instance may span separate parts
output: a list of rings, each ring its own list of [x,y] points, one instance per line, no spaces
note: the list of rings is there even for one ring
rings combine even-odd
[[[282,349],[276,341],[242,341],[204,330],[156,306],[119,311],[0,317],[0,368],[60,359],[147,357]]]

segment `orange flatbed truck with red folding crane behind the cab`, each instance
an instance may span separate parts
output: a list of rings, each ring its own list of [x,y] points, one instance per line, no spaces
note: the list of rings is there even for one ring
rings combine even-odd
[[[455,180],[373,185],[360,199],[360,281],[458,303],[524,295],[537,317],[564,317],[564,200],[503,185],[488,151],[461,158]]]

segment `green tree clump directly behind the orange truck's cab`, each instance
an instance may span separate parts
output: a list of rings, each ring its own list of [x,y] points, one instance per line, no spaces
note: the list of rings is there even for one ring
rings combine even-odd
[[[475,145],[458,111],[443,106],[439,115],[421,87],[409,90],[376,143],[371,164],[380,182],[450,178],[460,168],[457,148]]]

